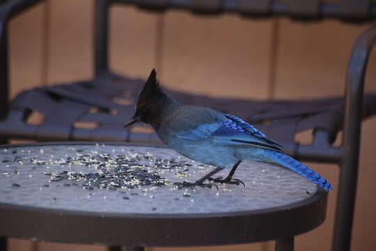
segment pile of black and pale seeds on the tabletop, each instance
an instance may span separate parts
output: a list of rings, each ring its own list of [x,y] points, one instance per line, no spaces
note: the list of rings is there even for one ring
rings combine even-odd
[[[36,165],[47,165],[47,162],[39,162],[37,158],[31,161]],[[140,164],[148,162],[149,165]],[[56,163],[56,162],[55,162]],[[115,155],[111,154],[84,154],[77,157],[68,157],[58,162],[62,166],[82,165],[94,169],[96,172],[45,172],[51,176],[50,181],[79,181],[81,188],[93,190],[94,188],[107,188],[116,190],[118,188],[133,189],[141,188],[143,185],[164,186],[169,184],[166,178],[159,176],[155,167],[159,169],[175,169],[176,167],[189,167],[191,164],[185,161],[174,159],[154,158],[150,155]],[[189,169],[184,169],[187,172]],[[181,171],[179,171],[181,172]],[[73,182],[64,185],[79,185]]]

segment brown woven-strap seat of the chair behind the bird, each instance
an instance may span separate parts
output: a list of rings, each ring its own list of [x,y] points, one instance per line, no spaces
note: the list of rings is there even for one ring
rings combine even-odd
[[[152,130],[125,130],[123,123],[134,114],[134,105],[145,80],[107,73],[91,81],[45,86],[23,91],[11,103],[0,135],[38,141],[115,141],[160,143]],[[296,155],[295,135],[304,130],[326,132],[334,142],[343,123],[343,98],[318,100],[240,100],[210,98],[165,88],[188,105],[212,107],[252,123]],[[38,125],[27,123],[32,112],[44,115]],[[363,99],[363,118],[376,112],[376,95]],[[90,128],[87,128],[90,127]]]

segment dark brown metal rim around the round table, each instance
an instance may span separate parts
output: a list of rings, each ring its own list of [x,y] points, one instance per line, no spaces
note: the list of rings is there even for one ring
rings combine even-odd
[[[0,145],[0,149],[82,144],[94,146],[96,143]],[[150,246],[229,245],[277,239],[276,250],[292,250],[294,236],[324,222],[327,197],[328,192],[318,188],[311,197],[285,206],[231,213],[184,214],[94,213],[0,203],[0,234],[62,243],[118,245],[112,250],[119,250],[120,245],[127,246],[127,250],[143,250]]]

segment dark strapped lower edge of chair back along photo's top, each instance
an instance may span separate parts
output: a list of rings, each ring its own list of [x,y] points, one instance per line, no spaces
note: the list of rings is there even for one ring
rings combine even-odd
[[[336,18],[345,22],[375,20],[376,5],[368,0],[341,0],[336,3],[319,0],[111,0],[110,3],[136,5],[147,10],[191,10],[210,15],[238,13],[245,17],[287,16],[298,20]]]

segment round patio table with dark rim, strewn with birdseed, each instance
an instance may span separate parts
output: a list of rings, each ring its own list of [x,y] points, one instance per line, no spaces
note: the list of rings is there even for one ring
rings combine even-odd
[[[245,186],[174,185],[194,182],[213,168],[161,146],[2,146],[0,235],[106,245],[219,245],[301,234],[324,221],[327,192],[264,162],[240,164],[234,178]],[[274,230],[265,231],[268,226]]]

